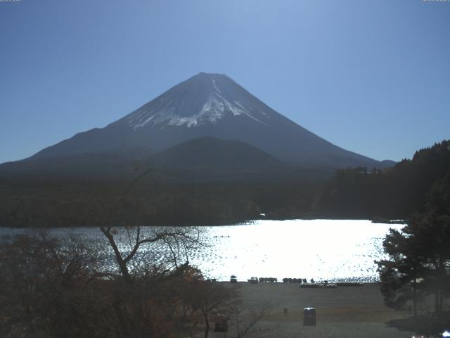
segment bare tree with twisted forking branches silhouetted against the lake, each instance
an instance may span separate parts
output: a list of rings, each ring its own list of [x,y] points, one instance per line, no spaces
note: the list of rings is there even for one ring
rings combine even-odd
[[[135,202],[131,192],[144,180],[154,181],[154,174],[146,170],[119,192],[106,192],[100,205],[100,230],[121,277],[115,280],[112,302],[118,337],[169,337],[176,326],[180,274],[188,268],[190,251],[203,244],[198,227],[127,225]]]

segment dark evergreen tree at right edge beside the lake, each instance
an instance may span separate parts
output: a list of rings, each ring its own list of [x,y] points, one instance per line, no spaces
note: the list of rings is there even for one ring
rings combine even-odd
[[[378,261],[381,292],[387,306],[399,308],[435,295],[443,309],[450,284],[450,172],[433,184],[423,213],[416,213],[401,232],[390,230],[383,242],[389,259]],[[419,282],[420,281],[420,282]]]

